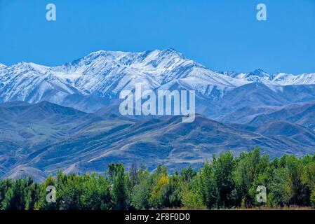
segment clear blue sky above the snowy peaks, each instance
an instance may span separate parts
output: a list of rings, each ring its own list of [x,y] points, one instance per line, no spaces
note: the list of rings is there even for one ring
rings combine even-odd
[[[46,21],[55,3],[57,20]],[[257,3],[267,22],[256,20]],[[175,48],[213,70],[315,72],[314,0],[0,0],[0,62]]]

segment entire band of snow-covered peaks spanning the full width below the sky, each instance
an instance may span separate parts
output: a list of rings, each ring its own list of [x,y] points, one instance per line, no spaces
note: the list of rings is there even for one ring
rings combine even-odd
[[[195,90],[209,109],[213,104],[208,102],[217,102],[238,87],[262,83],[281,94],[283,86],[315,84],[315,73],[271,75],[262,69],[250,73],[215,72],[172,48],[145,52],[100,50],[60,66],[0,64],[0,103],[48,101],[95,112],[116,103],[121,90],[133,90],[135,83],[142,83],[142,89],[149,90]],[[256,85],[250,87],[255,89]]]

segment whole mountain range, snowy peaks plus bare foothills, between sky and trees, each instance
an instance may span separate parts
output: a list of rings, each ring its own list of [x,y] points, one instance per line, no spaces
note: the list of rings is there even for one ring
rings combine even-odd
[[[196,120],[119,114],[119,93],[195,90]],[[260,146],[272,156],[315,146],[315,73],[212,71],[169,48],[98,51],[60,66],[0,64],[0,177],[102,172],[109,162],[200,167]],[[149,158],[149,160],[148,160]]]

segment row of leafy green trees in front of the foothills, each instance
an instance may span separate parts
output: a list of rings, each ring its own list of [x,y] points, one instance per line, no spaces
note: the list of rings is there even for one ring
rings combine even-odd
[[[55,202],[46,200],[55,187]],[[257,201],[257,187],[267,189],[266,201]],[[315,207],[315,154],[270,159],[259,148],[234,157],[230,152],[168,174],[159,165],[154,172],[121,163],[105,174],[48,176],[0,181],[0,209],[232,209],[253,207]]]

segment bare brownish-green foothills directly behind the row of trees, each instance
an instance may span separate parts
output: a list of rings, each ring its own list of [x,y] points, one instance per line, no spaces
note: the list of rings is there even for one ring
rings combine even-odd
[[[198,114],[194,123],[182,123],[181,116],[122,120],[50,102],[8,104],[0,104],[1,115],[6,114],[0,119],[0,174],[7,177],[34,174],[41,180],[60,169],[102,172],[109,162],[143,163],[149,169],[161,163],[176,170],[189,164],[200,167],[213,154],[238,155],[255,146],[272,156],[314,151],[314,132],[293,123],[283,123],[294,128],[291,137],[286,126],[269,133],[268,125],[241,129]]]

